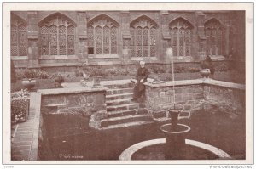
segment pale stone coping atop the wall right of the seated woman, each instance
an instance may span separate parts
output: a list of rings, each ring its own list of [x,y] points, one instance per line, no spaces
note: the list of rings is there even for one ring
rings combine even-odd
[[[148,87],[172,87],[175,86],[185,86],[185,85],[198,85],[198,84],[207,84],[207,85],[214,85],[219,87],[229,87],[229,88],[235,88],[240,90],[245,90],[245,85],[238,84],[234,82],[223,82],[223,81],[217,81],[211,78],[201,78],[201,79],[195,79],[195,80],[183,80],[183,81],[168,81],[168,82],[154,82],[154,81],[148,81],[145,82],[145,85]]]

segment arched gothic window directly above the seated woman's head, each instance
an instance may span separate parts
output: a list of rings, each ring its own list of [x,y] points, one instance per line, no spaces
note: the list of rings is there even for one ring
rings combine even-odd
[[[131,23],[131,57],[154,57],[156,52],[157,25],[148,18],[141,17]]]

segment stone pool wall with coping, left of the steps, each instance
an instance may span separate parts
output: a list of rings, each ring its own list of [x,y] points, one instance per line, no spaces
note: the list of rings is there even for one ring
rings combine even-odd
[[[40,90],[42,93],[42,110],[46,113],[71,113],[79,115],[93,114],[106,110],[106,89],[95,88],[84,91],[76,89]],[[55,91],[55,92],[54,92]]]

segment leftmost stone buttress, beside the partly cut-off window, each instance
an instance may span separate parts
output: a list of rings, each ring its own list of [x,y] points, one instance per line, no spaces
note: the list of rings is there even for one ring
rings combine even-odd
[[[29,66],[38,66],[39,48],[38,48],[38,12],[27,12],[27,57]]]

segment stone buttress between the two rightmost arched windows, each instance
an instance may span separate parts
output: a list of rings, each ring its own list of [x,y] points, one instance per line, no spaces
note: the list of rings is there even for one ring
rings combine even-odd
[[[197,42],[197,57],[195,59],[204,59],[206,57],[207,51],[207,37],[205,35],[205,18],[206,15],[203,14],[201,11],[195,12],[196,19],[197,19],[197,35],[198,35],[198,42]]]

